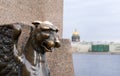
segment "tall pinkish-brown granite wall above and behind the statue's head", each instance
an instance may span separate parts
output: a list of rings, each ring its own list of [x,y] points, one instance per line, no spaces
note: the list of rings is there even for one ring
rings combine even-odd
[[[0,24],[50,21],[62,37],[63,0],[0,0]]]

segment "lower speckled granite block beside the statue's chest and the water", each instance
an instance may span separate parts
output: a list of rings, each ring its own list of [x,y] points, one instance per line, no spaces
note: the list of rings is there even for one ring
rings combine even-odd
[[[61,39],[61,47],[47,53],[51,76],[74,76],[72,48],[68,39]]]

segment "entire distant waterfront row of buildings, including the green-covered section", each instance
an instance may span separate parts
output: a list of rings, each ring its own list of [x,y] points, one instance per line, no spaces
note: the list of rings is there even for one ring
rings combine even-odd
[[[72,42],[71,46],[74,52],[109,52],[120,54],[120,43],[119,42]]]

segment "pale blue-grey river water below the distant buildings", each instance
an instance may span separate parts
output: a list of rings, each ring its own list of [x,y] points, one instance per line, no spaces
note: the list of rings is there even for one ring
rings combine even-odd
[[[73,54],[75,76],[120,76],[120,55]]]

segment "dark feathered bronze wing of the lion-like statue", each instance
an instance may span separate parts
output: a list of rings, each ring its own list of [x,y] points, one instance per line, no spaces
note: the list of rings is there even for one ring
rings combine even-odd
[[[0,76],[18,76],[20,73],[13,51],[20,34],[19,23],[0,25]]]

